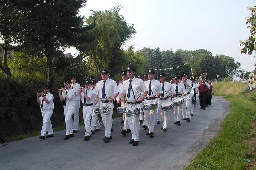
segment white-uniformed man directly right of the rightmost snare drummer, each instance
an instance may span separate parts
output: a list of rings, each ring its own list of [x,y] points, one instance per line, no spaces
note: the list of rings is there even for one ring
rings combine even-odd
[[[182,116],[183,118],[181,120],[187,120],[188,122],[190,121],[190,111],[191,111],[191,86],[192,86],[192,81],[187,79],[187,73],[182,74],[182,79],[181,79],[181,84],[185,87],[185,90],[187,92],[186,96],[183,96],[184,103],[182,104]]]

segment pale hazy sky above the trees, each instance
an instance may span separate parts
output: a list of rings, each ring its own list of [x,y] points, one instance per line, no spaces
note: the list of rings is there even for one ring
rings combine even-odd
[[[245,17],[251,15],[247,8],[256,5],[254,0],[87,0],[79,15],[87,18],[90,10],[110,10],[118,4],[123,6],[120,14],[124,20],[136,29],[124,49],[130,45],[135,50],[205,49],[212,55],[233,57],[246,71],[254,69],[256,58],[239,52],[239,40],[250,35]]]

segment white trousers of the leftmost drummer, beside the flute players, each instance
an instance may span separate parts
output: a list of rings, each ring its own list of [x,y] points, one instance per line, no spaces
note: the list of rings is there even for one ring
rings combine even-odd
[[[100,107],[110,107],[110,113],[109,114],[101,114],[101,118],[105,127],[105,137],[111,136],[110,129],[112,128],[112,116],[113,116],[113,109],[114,109],[114,103],[108,102],[108,103],[102,103],[100,102]]]

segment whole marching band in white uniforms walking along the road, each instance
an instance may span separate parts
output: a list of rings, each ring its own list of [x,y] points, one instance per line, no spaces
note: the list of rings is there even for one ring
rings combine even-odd
[[[175,76],[171,83],[166,81],[165,73],[155,76],[155,70],[149,68],[147,74],[139,74],[135,77],[136,69],[128,65],[122,70],[122,80],[117,85],[116,81],[110,78],[108,69],[101,69],[101,81],[96,81],[95,77],[89,76],[84,80],[84,85],[76,83],[76,77],[70,76],[70,81],[64,82],[65,88],[58,89],[59,98],[63,102],[63,110],[66,123],[66,134],[64,140],[74,136],[78,132],[78,111],[82,103],[82,113],[85,124],[84,141],[88,141],[94,132],[101,130],[98,115],[101,115],[105,128],[105,143],[112,139],[112,115],[114,100],[121,104],[117,112],[123,115],[124,123],[121,134],[131,132],[133,146],[139,143],[140,124],[148,129],[150,138],[154,137],[154,126],[160,124],[160,115],[163,123],[162,130],[168,129],[168,116],[174,109],[174,124],[181,125],[181,120],[190,122],[194,114],[196,95],[199,93],[200,109],[205,110],[211,105],[213,84],[208,79],[207,73],[199,77],[199,82],[187,78],[187,73],[182,73],[181,77]],[[172,83],[172,81],[174,81]],[[43,117],[41,135],[39,139],[53,137],[53,129],[50,118],[53,114],[53,95],[49,92],[49,87],[45,86],[44,92],[37,93],[37,103]],[[77,98],[78,97],[78,98]],[[79,99],[79,100],[77,100]],[[74,115],[74,120],[72,116]],[[181,118],[182,116],[182,118]],[[144,119],[143,119],[144,118]],[[46,133],[48,135],[46,136]],[[45,137],[46,136],[46,137]]]

